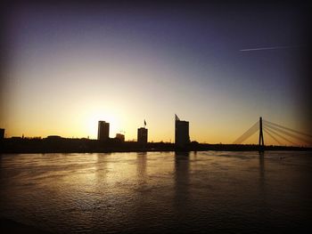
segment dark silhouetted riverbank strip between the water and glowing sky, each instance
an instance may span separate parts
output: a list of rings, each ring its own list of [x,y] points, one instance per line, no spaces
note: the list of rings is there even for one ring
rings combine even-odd
[[[4,139],[0,153],[108,153],[108,152],[150,152],[150,151],[259,151],[255,144],[206,144],[193,141],[184,148],[174,143],[149,142],[139,144],[135,141],[97,141],[89,139]],[[308,147],[265,146],[264,150],[309,151]]]

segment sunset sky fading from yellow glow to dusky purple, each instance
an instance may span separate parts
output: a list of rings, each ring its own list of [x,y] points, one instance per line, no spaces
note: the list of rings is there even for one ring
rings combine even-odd
[[[132,141],[145,119],[149,141],[173,142],[177,114],[191,141],[232,143],[259,117],[308,132],[305,17],[283,2],[11,4],[0,127],[96,139],[104,120]]]

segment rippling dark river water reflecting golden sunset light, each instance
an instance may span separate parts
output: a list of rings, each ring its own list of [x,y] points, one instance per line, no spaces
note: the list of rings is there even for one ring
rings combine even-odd
[[[0,157],[0,216],[54,233],[311,230],[312,152]]]

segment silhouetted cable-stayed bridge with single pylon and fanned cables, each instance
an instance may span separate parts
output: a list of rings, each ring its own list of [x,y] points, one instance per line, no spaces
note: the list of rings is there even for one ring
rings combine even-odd
[[[257,132],[259,132],[259,151],[264,150],[264,133],[266,133],[266,137],[268,136],[271,141],[279,146],[312,146],[311,134],[302,133],[289,127],[275,124],[262,119],[262,117],[260,117],[254,125],[251,125],[245,133],[242,133],[233,143],[242,144]]]

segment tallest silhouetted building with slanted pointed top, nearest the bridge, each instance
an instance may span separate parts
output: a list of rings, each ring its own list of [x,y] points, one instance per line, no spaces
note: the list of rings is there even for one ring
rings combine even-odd
[[[179,148],[185,147],[190,143],[189,135],[189,122],[180,120],[176,115],[176,131],[175,131],[175,143]]]

